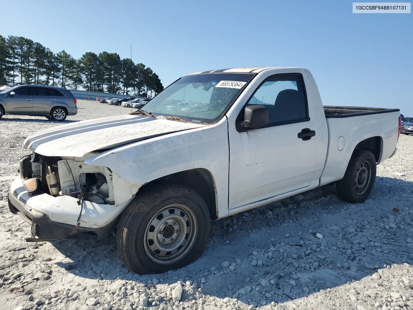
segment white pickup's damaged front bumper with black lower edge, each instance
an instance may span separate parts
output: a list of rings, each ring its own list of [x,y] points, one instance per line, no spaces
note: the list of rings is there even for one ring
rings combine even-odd
[[[103,238],[116,226],[124,207],[83,202],[81,225],[76,227],[81,210],[77,199],[53,197],[46,193],[29,195],[20,177],[14,180],[8,195],[10,212],[31,224],[31,240]]]

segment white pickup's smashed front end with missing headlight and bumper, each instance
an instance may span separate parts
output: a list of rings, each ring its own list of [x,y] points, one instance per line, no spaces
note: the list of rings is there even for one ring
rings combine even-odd
[[[96,154],[21,158],[9,209],[31,224],[30,241],[102,238],[114,229],[133,195],[115,201],[112,171],[84,162]]]

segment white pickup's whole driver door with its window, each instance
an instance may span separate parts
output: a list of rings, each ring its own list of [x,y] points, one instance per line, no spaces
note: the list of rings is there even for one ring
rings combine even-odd
[[[309,186],[316,166],[319,127],[309,117],[301,75],[266,79],[247,101],[254,104],[267,107],[268,124],[230,131],[230,209]],[[303,129],[315,136],[299,138]]]

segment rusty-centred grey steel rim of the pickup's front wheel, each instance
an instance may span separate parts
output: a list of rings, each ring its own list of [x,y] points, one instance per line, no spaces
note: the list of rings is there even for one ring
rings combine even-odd
[[[197,234],[197,217],[190,207],[167,205],[152,217],[145,229],[145,251],[158,264],[173,264],[189,253]]]

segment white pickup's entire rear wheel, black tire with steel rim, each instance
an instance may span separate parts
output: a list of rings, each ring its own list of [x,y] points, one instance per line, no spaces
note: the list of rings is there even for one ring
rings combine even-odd
[[[337,194],[349,203],[363,203],[376,180],[376,159],[367,150],[357,150],[351,156],[343,179],[336,182]]]

